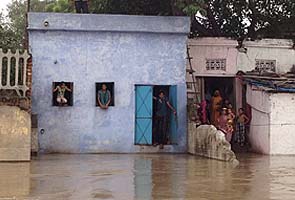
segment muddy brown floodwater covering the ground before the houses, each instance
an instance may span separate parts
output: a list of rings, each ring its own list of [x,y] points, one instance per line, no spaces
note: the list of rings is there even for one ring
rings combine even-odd
[[[295,157],[238,159],[234,167],[191,155],[42,155],[0,163],[0,200],[295,199]]]

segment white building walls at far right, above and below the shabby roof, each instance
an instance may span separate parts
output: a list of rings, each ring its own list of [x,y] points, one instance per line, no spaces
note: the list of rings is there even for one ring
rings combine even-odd
[[[264,39],[244,42],[246,53],[238,53],[238,71],[273,71],[285,74],[295,66],[295,49],[291,40]],[[295,154],[295,94],[274,93],[247,86],[240,91],[240,101],[251,106],[249,140],[255,152]]]

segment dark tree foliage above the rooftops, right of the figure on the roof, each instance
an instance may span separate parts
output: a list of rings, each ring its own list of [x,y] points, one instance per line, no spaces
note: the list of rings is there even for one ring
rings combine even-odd
[[[295,0],[89,0],[92,13],[188,15],[194,36],[293,37]]]

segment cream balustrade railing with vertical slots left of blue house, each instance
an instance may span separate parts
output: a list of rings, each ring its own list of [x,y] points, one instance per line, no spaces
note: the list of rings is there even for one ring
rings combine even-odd
[[[29,90],[27,81],[27,51],[15,53],[0,49],[0,90],[14,90],[19,97],[25,97]]]

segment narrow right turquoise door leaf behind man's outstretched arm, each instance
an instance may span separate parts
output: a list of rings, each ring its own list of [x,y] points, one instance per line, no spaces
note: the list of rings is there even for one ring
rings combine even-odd
[[[169,101],[171,105],[177,110],[177,86],[172,85],[169,87]],[[170,114],[170,141],[172,144],[177,144],[177,128],[178,121],[177,116],[171,112]]]

